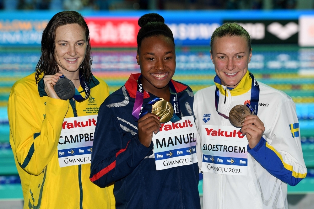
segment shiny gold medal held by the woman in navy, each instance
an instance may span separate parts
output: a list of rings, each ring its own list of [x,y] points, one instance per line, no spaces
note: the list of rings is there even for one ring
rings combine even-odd
[[[161,100],[156,102],[152,108],[152,113],[160,117],[159,121],[161,123],[166,123],[170,121],[173,116],[173,107],[170,102],[160,98]]]

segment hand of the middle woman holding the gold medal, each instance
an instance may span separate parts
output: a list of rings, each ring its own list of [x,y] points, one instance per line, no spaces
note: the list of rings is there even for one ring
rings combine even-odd
[[[153,134],[157,134],[161,125],[159,117],[153,113],[147,113],[138,120],[138,139],[145,146],[152,143]]]

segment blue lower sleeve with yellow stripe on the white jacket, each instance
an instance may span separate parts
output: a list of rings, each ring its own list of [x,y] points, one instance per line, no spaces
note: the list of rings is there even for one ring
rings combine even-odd
[[[251,149],[247,145],[247,152],[270,174],[291,186],[297,185],[306,176],[306,174],[296,173],[292,166],[285,163],[281,154],[269,145],[263,137],[254,148]]]

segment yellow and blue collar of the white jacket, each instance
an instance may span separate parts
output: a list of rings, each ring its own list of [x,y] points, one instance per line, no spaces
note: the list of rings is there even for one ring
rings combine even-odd
[[[217,75],[214,78],[214,82],[215,82],[216,87],[219,89],[220,94],[225,96],[226,87],[221,85],[221,80]],[[251,89],[251,85],[252,85],[252,78],[249,75],[249,71],[247,71],[245,75],[243,76],[243,78],[241,79],[239,85],[236,86],[236,88],[227,87],[227,89],[230,90],[231,96],[238,96],[238,95],[248,92]]]

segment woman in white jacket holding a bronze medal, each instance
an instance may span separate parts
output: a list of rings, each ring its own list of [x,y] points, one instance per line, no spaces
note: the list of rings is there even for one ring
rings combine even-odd
[[[307,172],[295,104],[248,71],[251,40],[242,26],[217,28],[210,53],[215,85],[199,90],[193,106],[203,208],[287,209],[287,184]]]

